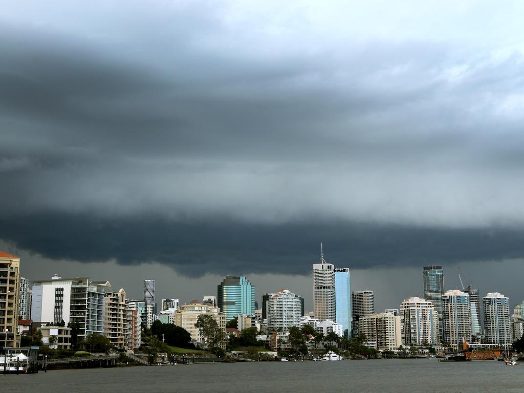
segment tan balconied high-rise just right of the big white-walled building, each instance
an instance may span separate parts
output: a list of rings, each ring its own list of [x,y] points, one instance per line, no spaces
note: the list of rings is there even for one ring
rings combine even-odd
[[[128,305],[126,291],[105,288],[104,336],[117,348],[125,348],[127,340]]]

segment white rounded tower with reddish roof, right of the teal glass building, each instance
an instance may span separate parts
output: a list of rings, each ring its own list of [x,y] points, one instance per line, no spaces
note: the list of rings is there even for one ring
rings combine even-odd
[[[291,326],[300,326],[300,297],[280,289],[267,301],[267,329],[275,332],[277,329],[287,332]]]

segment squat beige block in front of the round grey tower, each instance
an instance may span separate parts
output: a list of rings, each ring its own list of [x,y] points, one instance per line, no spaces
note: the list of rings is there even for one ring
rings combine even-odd
[[[362,316],[358,322],[359,334],[365,334],[368,343],[375,343],[379,351],[392,351],[401,345],[400,316],[381,312]]]

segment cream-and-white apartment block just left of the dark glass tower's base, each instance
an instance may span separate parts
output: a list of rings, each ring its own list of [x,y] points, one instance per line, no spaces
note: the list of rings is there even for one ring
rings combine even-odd
[[[400,304],[402,344],[435,344],[439,339],[439,319],[433,303],[418,297]]]

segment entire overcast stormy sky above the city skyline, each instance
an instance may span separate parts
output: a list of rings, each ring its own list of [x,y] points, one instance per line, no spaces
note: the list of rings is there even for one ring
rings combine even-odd
[[[312,308],[323,242],[377,310],[428,264],[524,299],[524,3],[321,3],[0,0],[23,274]]]

